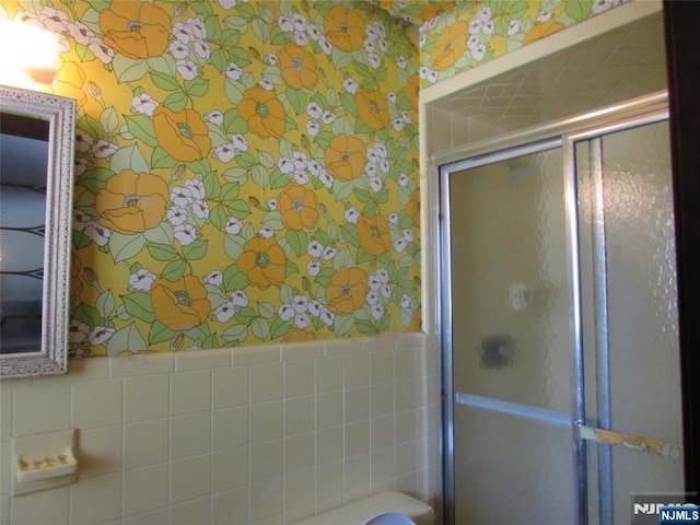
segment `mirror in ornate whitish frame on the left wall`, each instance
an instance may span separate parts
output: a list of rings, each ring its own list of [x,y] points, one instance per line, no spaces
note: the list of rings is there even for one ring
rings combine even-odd
[[[0,378],[68,371],[75,102],[0,86]]]

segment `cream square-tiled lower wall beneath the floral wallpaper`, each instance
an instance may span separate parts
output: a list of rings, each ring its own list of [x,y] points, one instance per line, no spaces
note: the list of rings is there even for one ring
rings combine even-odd
[[[284,525],[387,489],[436,505],[424,335],[89,359],[0,387],[0,525]],[[11,497],[12,439],[67,428],[78,482]]]

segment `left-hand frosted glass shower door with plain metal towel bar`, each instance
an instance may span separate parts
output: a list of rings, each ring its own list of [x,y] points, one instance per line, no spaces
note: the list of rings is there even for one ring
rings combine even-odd
[[[558,143],[453,171],[455,523],[574,523]]]

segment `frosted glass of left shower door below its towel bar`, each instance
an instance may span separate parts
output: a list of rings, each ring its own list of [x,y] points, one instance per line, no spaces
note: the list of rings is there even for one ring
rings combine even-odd
[[[456,524],[574,523],[571,429],[458,405]]]

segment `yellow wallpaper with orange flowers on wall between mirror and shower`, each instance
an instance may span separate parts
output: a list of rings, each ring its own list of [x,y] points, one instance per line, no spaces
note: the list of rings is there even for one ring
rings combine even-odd
[[[420,329],[417,32],[366,2],[5,1],[78,101],[71,357]]]

